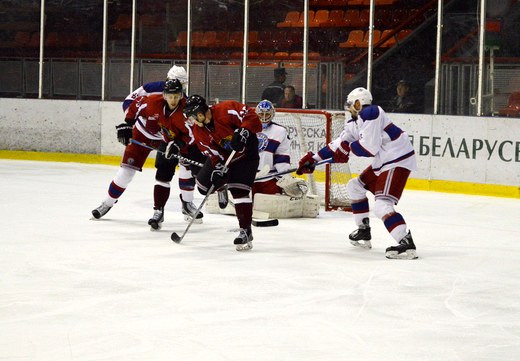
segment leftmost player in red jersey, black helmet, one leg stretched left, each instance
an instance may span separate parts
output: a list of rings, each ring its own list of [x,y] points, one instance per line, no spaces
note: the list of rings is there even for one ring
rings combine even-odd
[[[150,147],[157,148],[161,143],[168,144],[169,154],[188,152],[189,144],[194,140],[190,137],[190,130],[184,122],[182,113],[186,100],[183,96],[182,84],[179,80],[167,80],[163,94],[138,97],[126,112],[125,123],[118,128],[118,140],[125,145],[121,166],[110,183],[108,195],[101,205],[92,211],[94,218],[103,217],[117,202],[126,190],[136,171],[141,171],[151,150],[130,142],[135,139]],[[200,154],[200,152],[197,152]],[[192,158],[192,155],[190,155]],[[204,161],[201,158],[199,161]],[[177,159],[166,159],[162,154],[156,158],[156,185],[154,189],[154,215],[148,221],[152,229],[159,229],[164,220],[164,205],[169,197],[169,182],[175,172]],[[194,180],[191,184],[191,193],[194,190]],[[189,188],[189,185],[187,185]],[[182,197],[181,197],[182,199]],[[196,207],[190,208],[183,202],[183,213],[192,214]],[[186,209],[185,209],[186,208]]]

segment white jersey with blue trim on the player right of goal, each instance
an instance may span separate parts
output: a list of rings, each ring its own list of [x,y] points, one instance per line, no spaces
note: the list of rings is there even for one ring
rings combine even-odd
[[[330,158],[343,141],[349,143],[351,153],[358,157],[374,158],[372,169],[376,175],[396,167],[417,170],[415,151],[408,134],[392,123],[377,105],[364,107],[356,118],[347,119],[340,136],[318,155],[322,159]]]

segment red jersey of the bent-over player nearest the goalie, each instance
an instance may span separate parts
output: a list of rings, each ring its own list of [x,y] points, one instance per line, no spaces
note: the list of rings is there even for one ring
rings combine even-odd
[[[234,100],[212,105],[210,109],[210,124],[204,127],[193,126],[193,135],[202,154],[210,156],[213,163],[226,160],[231,153],[229,144],[233,132],[238,128],[246,128],[251,134],[242,154],[256,154],[258,157],[258,140],[255,134],[262,131],[262,123],[255,110]]]

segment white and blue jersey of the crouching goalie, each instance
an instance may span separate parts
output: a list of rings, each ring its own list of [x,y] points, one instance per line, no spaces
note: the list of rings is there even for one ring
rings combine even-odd
[[[266,129],[256,134],[258,138],[258,152],[260,163],[258,169],[268,164],[270,174],[284,172],[291,168],[291,141],[287,129],[276,123],[271,123]],[[267,178],[263,181],[268,181]]]

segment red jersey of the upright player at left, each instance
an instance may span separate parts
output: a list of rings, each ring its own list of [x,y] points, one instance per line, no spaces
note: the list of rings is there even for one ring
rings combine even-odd
[[[152,94],[136,98],[127,109],[126,117],[135,119],[135,127],[148,139],[170,140],[177,138],[184,143],[194,142],[191,127],[186,124],[182,110],[186,99],[182,98],[175,109],[170,111],[162,94]]]

